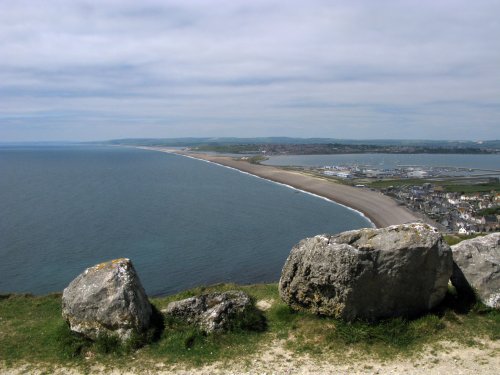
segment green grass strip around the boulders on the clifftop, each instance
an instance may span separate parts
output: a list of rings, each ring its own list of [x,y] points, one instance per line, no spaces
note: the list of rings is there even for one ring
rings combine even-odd
[[[233,331],[206,335],[174,319],[161,320],[161,329],[151,332],[148,343],[135,339],[121,344],[113,337],[90,341],[71,333],[61,318],[60,295],[3,296],[0,300],[0,358],[7,366],[44,363],[48,366],[105,364],[147,367],[151,363],[200,366],[233,358],[248,360],[276,340],[297,353],[343,359],[353,355],[396,358],[418,353],[425,345],[449,340],[479,345],[483,338],[500,339],[500,312],[472,300],[464,301],[450,289],[444,302],[431,313],[413,320],[388,319],[378,323],[346,323],[291,310],[280,301],[276,284],[233,284],[196,288],[175,296],[152,298],[156,309],[170,301],[203,292],[240,289],[257,301],[272,300],[260,315],[241,319]],[[252,329],[252,327],[258,329]],[[263,329],[265,328],[265,329]],[[126,360],[124,358],[126,357]]]

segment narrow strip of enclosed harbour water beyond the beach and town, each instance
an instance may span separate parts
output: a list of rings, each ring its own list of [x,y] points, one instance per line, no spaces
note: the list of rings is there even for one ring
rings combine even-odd
[[[299,165],[366,165],[379,169],[393,169],[398,165],[428,167],[462,167],[500,170],[500,154],[345,154],[345,155],[286,155],[271,156],[264,164]]]

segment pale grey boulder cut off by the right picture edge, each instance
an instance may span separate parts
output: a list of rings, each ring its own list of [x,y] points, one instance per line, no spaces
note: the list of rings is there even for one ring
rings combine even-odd
[[[500,309],[500,233],[465,240],[451,249],[451,282],[458,292],[472,288],[481,302]]]

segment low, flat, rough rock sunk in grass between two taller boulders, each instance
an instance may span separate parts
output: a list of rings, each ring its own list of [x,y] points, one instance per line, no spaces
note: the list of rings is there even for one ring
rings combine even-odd
[[[253,305],[246,293],[228,291],[174,301],[162,312],[212,333],[231,329],[234,319],[238,319],[251,309]]]

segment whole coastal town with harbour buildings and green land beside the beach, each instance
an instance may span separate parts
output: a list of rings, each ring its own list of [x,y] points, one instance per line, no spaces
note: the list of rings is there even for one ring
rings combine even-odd
[[[444,232],[470,235],[500,231],[499,171],[401,166],[313,169],[359,188],[370,188],[433,220]],[[451,184],[459,181],[461,185]]]

